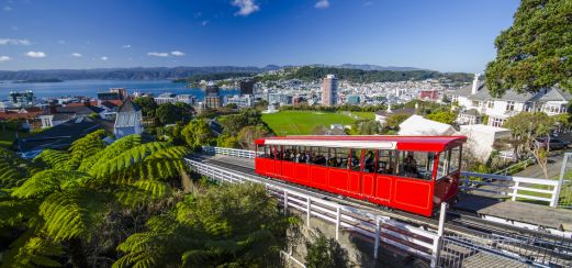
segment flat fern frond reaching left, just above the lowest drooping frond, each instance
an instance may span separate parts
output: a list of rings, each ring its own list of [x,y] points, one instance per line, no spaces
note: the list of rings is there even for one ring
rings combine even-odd
[[[13,197],[44,198],[55,191],[76,188],[91,177],[80,171],[48,169],[40,171],[27,179],[21,187],[14,189]]]

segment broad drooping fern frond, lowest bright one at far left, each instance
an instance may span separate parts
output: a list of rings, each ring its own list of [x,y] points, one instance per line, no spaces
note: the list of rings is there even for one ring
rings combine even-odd
[[[93,191],[65,191],[47,197],[40,205],[46,232],[54,241],[75,237],[90,239],[103,219],[109,197]]]

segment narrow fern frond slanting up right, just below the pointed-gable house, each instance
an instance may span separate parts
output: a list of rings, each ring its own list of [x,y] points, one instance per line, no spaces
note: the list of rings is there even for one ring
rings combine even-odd
[[[99,153],[89,156],[88,158],[83,159],[81,163],[79,170],[87,171],[91,169],[93,166],[99,166],[101,164],[106,163],[109,159],[112,159],[126,150],[137,146],[141,144],[141,136],[139,135],[128,135],[124,136],[104,149],[100,150]]]

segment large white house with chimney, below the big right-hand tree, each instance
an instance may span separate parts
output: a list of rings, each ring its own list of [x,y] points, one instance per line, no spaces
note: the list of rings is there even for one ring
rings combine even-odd
[[[457,101],[463,111],[475,109],[479,113],[489,115],[487,125],[502,126],[506,119],[520,112],[541,111],[548,115],[565,113],[572,94],[553,87],[537,93],[517,93],[508,89],[503,97],[495,98],[489,93],[486,86],[479,81],[476,74],[473,83],[453,92],[451,100]]]

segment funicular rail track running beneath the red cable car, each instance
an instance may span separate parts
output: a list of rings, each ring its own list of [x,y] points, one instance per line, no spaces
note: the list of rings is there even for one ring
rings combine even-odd
[[[281,185],[282,187],[302,190],[306,194],[312,194],[323,200],[372,211],[375,214],[388,216],[406,224],[417,225],[424,230],[435,231],[439,225],[438,220],[435,217],[424,217],[403,211],[395,211],[366,201],[340,197],[282,180],[261,177],[250,167],[205,158],[203,156],[193,156],[193,159],[223,169],[240,172],[257,180],[266,182],[270,181],[272,183]],[[485,221],[474,214],[462,211],[448,211],[444,235],[447,239],[451,239],[455,243],[467,245],[468,247],[479,247],[480,250],[486,250],[490,254],[500,255],[504,258],[512,258],[521,263],[529,263],[532,265],[541,264],[547,267],[572,266],[572,239],[549,233],[524,230]],[[412,246],[415,247],[415,245]],[[455,252],[455,248],[452,252]]]

